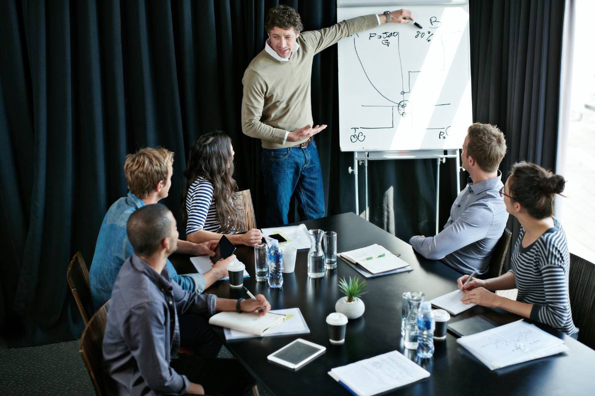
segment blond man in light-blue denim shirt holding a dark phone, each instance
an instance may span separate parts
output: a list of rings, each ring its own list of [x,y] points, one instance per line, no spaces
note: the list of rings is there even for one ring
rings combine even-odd
[[[174,153],[165,148],[142,148],[126,156],[124,175],[130,189],[127,197],[111,205],[99,230],[95,254],[89,271],[89,283],[93,307],[100,308],[109,300],[114,281],[124,261],[132,255],[133,249],[126,236],[126,222],[130,214],[148,204],[154,204],[167,197],[171,186]],[[212,249],[217,241],[195,244],[180,240],[181,253],[193,255],[214,255]],[[179,275],[167,261],[170,278],[183,290],[201,293],[219,278],[227,274],[230,260],[217,263],[204,276],[201,274]]]

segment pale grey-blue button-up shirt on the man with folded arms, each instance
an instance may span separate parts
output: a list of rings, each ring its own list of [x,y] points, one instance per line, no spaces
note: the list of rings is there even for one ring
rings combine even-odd
[[[473,184],[467,180],[450,208],[444,229],[436,236],[413,236],[409,243],[428,259],[441,260],[463,274],[477,270],[484,274],[490,264],[491,251],[502,236],[508,213],[499,191],[502,173],[495,178]]]

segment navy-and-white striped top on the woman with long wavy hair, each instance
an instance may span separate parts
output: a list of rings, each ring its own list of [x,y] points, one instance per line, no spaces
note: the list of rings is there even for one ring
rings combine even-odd
[[[209,180],[196,178],[186,194],[186,235],[205,230],[218,232],[217,205],[213,199],[213,185]]]

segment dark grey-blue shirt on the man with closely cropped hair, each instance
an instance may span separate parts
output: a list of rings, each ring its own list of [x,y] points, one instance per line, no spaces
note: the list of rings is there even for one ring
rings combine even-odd
[[[213,315],[214,294],[184,292],[132,255],[114,283],[103,340],[109,395],[186,394],[190,382],[170,366],[180,346],[178,315]]]

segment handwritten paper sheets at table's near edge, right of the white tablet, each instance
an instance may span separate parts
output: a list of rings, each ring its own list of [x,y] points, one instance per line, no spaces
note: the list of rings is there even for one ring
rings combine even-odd
[[[354,395],[372,396],[428,378],[430,373],[399,351],[391,351],[331,369],[328,375]]]

